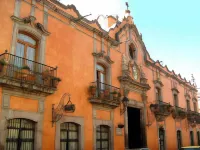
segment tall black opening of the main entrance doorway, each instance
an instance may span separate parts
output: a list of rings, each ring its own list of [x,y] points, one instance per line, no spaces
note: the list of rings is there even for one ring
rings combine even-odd
[[[128,107],[128,145],[129,148],[142,148],[140,109]]]

